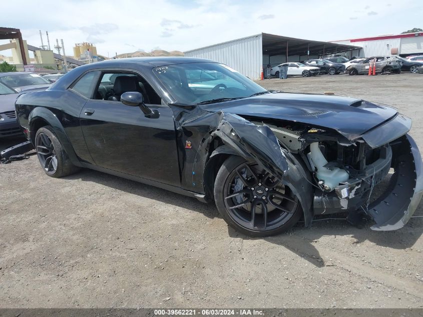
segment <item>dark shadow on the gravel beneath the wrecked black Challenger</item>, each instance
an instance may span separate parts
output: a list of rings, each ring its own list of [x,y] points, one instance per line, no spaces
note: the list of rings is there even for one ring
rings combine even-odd
[[[64,177],[64,179],[81,179],[82,181],[95,182],[141,197],[172,204],[194,212],[201,212],[208,218],[221,218],[214,203],[205,204],[192,197],[186,197],[154,186],[145,185],[102,172],[83,169],[74,175]],[[422,202],[420,202],[414,215],[423,215]],[[255,238],[246,236],[229,226],[228,234],[230,237],[234,238],[241,238],[244,240],[262,239],[286,247],[297,255],[305,258],[311,264],[317,267],[323,267],[330,264],[325,263],[325,260],[322,259],[319,251],[314,246],[323,236],[336,237],[348,235],[351,236],[351,241],[354,244],[359,244],[367,240],[384,247],[405,249],[414,245],[423,233],[423,218],[410,219],[409,223],[400,230],[373,231],[370,229],[374,224],[372,220],[368,220],[363,229],[358,229],[347,223],[346,220],[343,220],[342,218],[344,217],[345,214],[318,216],[315,217],[310,228],[305,228],[304,223],[300,221],[288,232],[271,237]],[[330,218],[339,218],[340,220],[331,220]],[[222,230],[224,230],[224,228],[222,228]]]

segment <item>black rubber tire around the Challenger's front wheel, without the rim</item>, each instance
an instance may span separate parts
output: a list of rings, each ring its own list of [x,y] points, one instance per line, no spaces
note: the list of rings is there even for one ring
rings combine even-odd
[[[236,167],[238,167],[241,164],[244,164],[245,162],[247,161],[240,156],[235,156],[235,155],[230,156],[228,159],[226,159],[225,162],[223,162],[221,168],[219,169],[217,173],[215,184],[214,184],[214,200],[216,203],[217,210],[219,211],[222,218],[226,221],[226,223],[228,223],[236,231],[241,232],[245,235],[255,236],[255,237],[275,235],[292,228],[295,225],[295,223],[298,222],[298,220],[301,218],[303,214],[299,203],[298,203],[297,209],[294,211],[294,214],[286,223],[284,223],[278,228],[268,230],[268,231],[255,231],[255,230],[247,229],[237,224],[231,218],[231,216],[226,210],[226,206],[224,202],[224,188],[228,180],[228,176],[231,174],[231,172]]]

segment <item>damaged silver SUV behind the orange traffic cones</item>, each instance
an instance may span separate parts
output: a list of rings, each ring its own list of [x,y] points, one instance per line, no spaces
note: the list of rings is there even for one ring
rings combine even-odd
[[[370,63],[375,61],[376,74],[380,73],[395,73],[401,72],[402,63],[394,56],[373,56],[366,58],[364,61],[353,64],[347,67],[345,73],[349,75],[364,75],[368,74]]]

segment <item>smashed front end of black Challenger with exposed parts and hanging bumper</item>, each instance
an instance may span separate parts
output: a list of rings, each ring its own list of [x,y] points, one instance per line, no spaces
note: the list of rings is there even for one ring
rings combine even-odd
[[[373,230],[403,227],[423,195],[423,163],[414,140],[406,134],[410,124],[409,118],[398,115],[348,139],[330,129],[267,123],[290,152],[306,161],[318,187],[313,189],[313,215],[365,212],[376,222]],[[391,168],[387,187],[374,199],[374,186]]]

